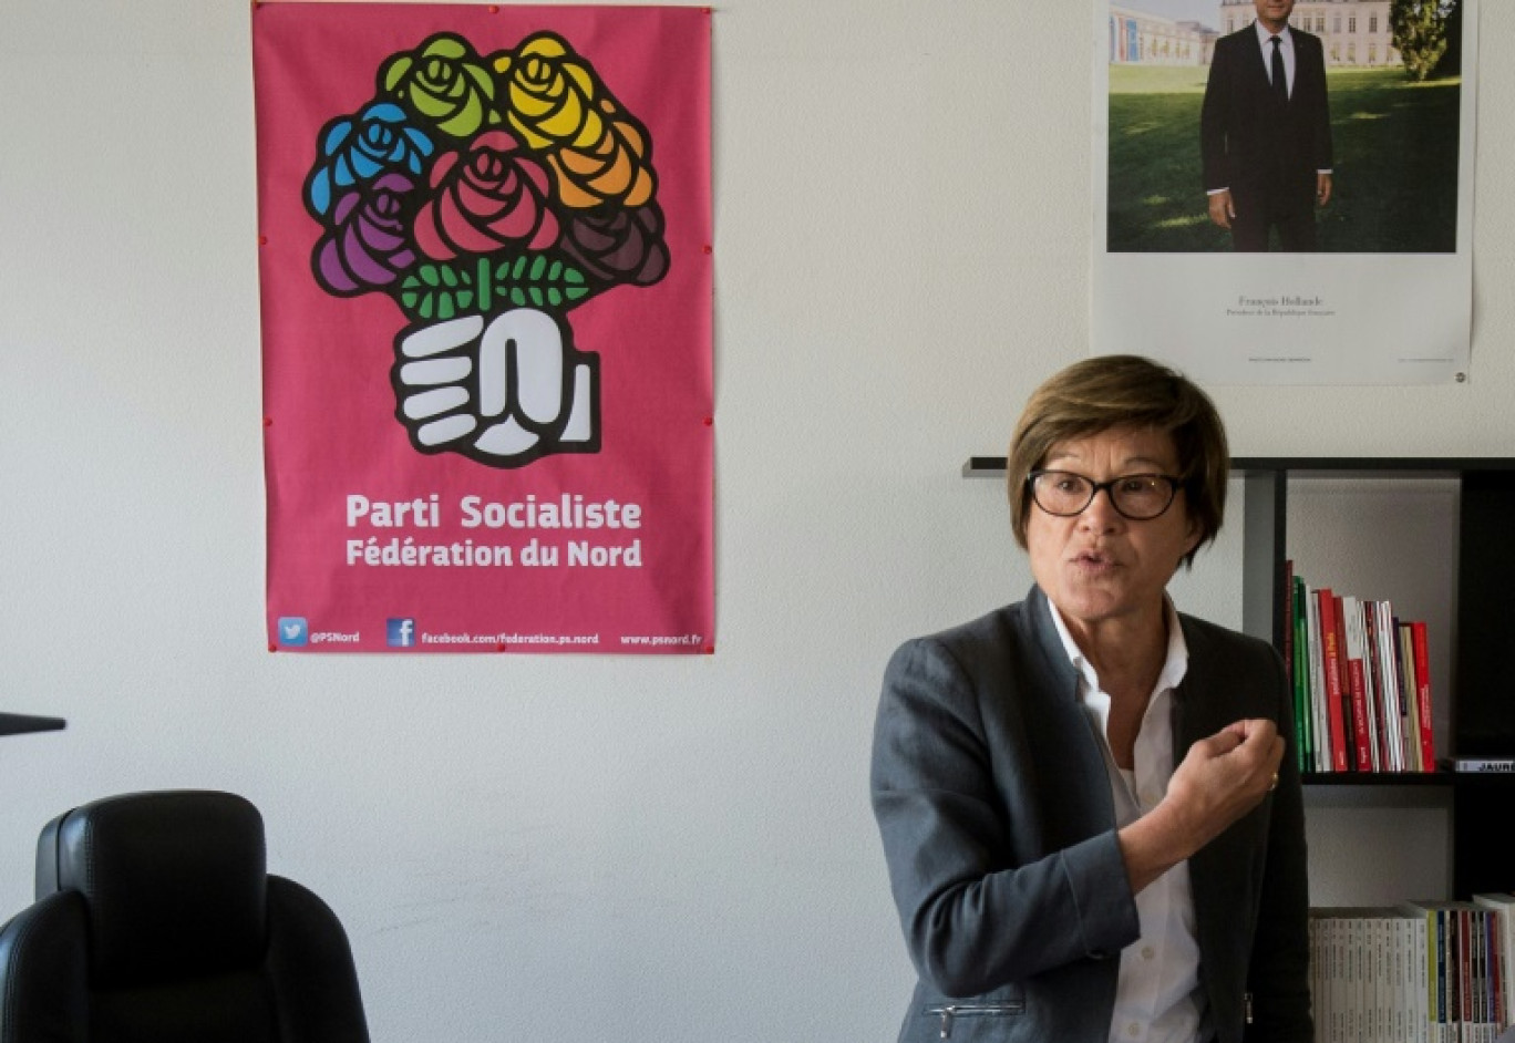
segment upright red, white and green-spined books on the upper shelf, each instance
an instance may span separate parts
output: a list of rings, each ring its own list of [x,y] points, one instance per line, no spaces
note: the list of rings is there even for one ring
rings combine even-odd
[[[1433,772],[1426,624],[1285,563],[1285,660],[1301,772]]]

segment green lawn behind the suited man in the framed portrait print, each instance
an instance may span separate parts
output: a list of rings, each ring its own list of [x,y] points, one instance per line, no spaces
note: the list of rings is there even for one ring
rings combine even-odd
[[[1230,250],[1200,180],[1206,73],[1110,67],[1109,250]],[[1456,250],[1460,80],[1410,83],[1382,68],[1330,71],[1327,82],[1336,173],[1321,250]]]

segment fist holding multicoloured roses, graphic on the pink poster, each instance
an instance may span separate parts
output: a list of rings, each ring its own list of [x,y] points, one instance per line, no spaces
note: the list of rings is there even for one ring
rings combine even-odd
[[[421,453],[497,468],[600,450],[600,359],[567,313],[668,269],[651,138],[561,36],[479,56],[438,33],[320,132],[317,283],[380,292],[395,418]]]

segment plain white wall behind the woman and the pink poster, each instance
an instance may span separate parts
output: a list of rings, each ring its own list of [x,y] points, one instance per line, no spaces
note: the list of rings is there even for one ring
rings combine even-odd
[[[892,1038],[874,699],[898,640],[1029,583],[959,466],[1086,353],[1089,24],[717,9],[714,657],[297,657],[264,648],[248,5],[0,0],[0,708],[68,718],[0,742],[0,917],[55,813],[226,787],[348,925],[376,1040]],[[1512,33],[1483,5],[1485,53]],[[1515,453],[1515,67],[1479,94],[1471,380],[1217,388],[1238,454]],[[1180,604],[1238,624],[1238,568]]]

